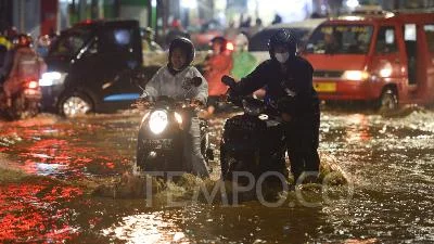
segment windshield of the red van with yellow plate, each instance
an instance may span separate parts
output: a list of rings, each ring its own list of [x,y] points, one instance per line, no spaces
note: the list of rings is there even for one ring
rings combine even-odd
[[[307,53],[366,54],[371,44],[370,25],[321,25],[310,36]]]

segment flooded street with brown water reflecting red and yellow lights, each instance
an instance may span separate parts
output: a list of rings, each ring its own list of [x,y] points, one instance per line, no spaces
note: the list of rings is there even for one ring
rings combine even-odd
[[[224,118],[209,121],[214,144]],[[0,121],[0,243],[434,242],[432,111],[395,117],[324,111],[320,152],[350,182],[326,194],[312,189],[312,206],[294,191],[277,207],[173,206],[158,195],[150,206],[143,197],[92,195],[131,169],[140,120],[124,112]]]

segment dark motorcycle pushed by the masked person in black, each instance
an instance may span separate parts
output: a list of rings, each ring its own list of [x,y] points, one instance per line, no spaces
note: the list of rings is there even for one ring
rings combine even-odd
[[[234,80],[224,76],[221,80],[232,88]],[[229,98],[242,106],[244,113],[226,120],[220,141],[221,178],[245,181],[241,175],[252,174],[257,180],[269,171],[288,178],[285,166],[285,137],[278,111],[255,98]]]

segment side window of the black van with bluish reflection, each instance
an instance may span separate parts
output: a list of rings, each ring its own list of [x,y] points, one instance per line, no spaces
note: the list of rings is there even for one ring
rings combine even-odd
[[[101,38],[101,51],[122,52],[132,48],[132,29],[106,29]]]

